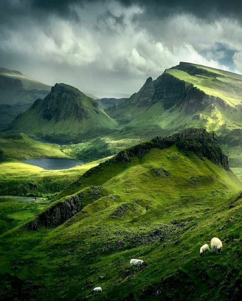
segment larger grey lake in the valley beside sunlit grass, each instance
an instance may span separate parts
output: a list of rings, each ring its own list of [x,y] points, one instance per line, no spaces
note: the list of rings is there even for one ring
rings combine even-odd
[[[22,162],[36,165],[44,169],[67,169],[76,165],[83,164],[83,161],[77,159],[61,159],[61,158],[43,158],[43,159],[25,159]]]

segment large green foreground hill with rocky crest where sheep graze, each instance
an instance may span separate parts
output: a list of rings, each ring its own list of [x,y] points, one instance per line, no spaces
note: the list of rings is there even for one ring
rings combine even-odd
[[[123,150],[35,216],[6,201],[1,299],[239,300],[240,189],[216,135],[188,129]],[[214,236],[222,254],[201,258]]]

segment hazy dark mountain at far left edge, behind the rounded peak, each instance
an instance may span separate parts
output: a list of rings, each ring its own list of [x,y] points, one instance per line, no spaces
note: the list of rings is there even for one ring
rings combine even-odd
[[[0,129],[26,111],[35,99],[45,97],[50,90],[51,86],[28,78],[19,71],[0,67]]]

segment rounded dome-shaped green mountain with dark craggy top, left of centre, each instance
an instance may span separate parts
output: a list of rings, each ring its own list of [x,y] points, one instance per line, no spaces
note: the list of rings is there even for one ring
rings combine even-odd
[[[37,99],[23,114],[11,124],[12,132],[73,141],[109,132],[116,126],[98,102],[78,89],[56,84],[44,99]]]

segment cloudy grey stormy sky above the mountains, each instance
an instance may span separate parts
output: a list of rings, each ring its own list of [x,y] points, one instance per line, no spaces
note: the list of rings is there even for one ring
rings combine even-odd
[[[0,66],[98,97],[180,61],[242,73],[241,0],[0,0]]]

